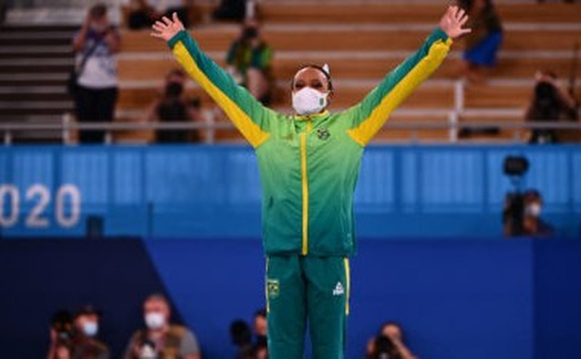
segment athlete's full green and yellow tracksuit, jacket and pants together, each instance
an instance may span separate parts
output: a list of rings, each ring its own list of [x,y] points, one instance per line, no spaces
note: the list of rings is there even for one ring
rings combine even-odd
[[[342,358],[363,151],[391,111],[439,67],[451,43],[438,28],[359,104],[341,113],[288,116],[237,86],[186,31],[169,40],[176,59],[255,148],[271,358],[302,358],[307,318],[313,358]]]

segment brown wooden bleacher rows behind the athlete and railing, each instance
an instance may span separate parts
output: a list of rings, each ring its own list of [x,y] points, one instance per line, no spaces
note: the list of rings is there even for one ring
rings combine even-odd
[[[526,107],[531,97],[535,71],[551,69],[561,78],[566,78],[571,67],[572,48],[575,42],[581,41],[581,4],[514,3],[500,4],[498,8],[506,29],[499,64],[490,73],[491,81],[465,88],[467,108],[494,110]],[[433,3],[366,3],[365,6],[337,3],[327,4],[324,12],[320,11],[317,3],[301,3],[299,6],[277,1],[260,3],[263,34],[275,49],[273,73],[278,81],[273,106],[284,110],[290,108],[288,81],[300,64],[323,62],[331,64],[335,80],[336,94],[331,109],[355,104],[371,89],[372,84],[378,83],[385,73],[418,48],[430,28],[436,26],[442,11],[443,6]],[[224,65],[225,51],[239,34],[237,26],[221,24],[197,26],[191,31],[201,48],[221,66]],[[297,37],[297,34],[304,36]],[[122,40],[118,112],[133,115],[120,115],[118,120],[139,121],[138,114],[143,113],[154,99],[167,71],[178,64],[163,42],[149,37],[148,30],[124,30]],[[451,80],[457,77],[461,50],[462,43],[458,41],[454,44],[452,55],[436,71],[432,80],[421,86],[402,108],[451,110],[454,106]],[[373,55],[365,56],[370,52]],[[327,59],[329,54],[332,56]],[[212,101],[200,88],[190,86],[188,92],[201,97],[206,109],[212,108]],[[477,119],[478,116],[466,116],[462,121]],[[498,116],[490,121],[514,122],[515,119],[522,120],[522,117]],[[396,113],[392,120],[443,123],[447,118],[442,115],[418,117]],[[378,139],[406,140],[411,138],[412,132],[382,130]],[[448,130],[417,131],[417,139],[422,141],[447,141],[448,137]],[[494,139],[513,137],[514,131],[503,130]],[[128,131],[118,138],[151,141],[153,137],[151,131],[145,135],[132,135]],[[476,141],[490,139],[477,134],[470,138]],[[242,141],[235,130],[217,130],[216,140]]]

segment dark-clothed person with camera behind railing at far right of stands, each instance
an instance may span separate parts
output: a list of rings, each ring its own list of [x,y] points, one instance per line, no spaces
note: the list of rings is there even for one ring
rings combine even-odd
[[[551,71],[539,71],[535,75],[536,83],[531,104],[526,110],[528,122],[557,122],[562,119],[577,120],[575,99],[560,86],[557,76]],[[554,144],[560,142],[559,131],[552,129],[534,129],[531,132],[530,144]]]

